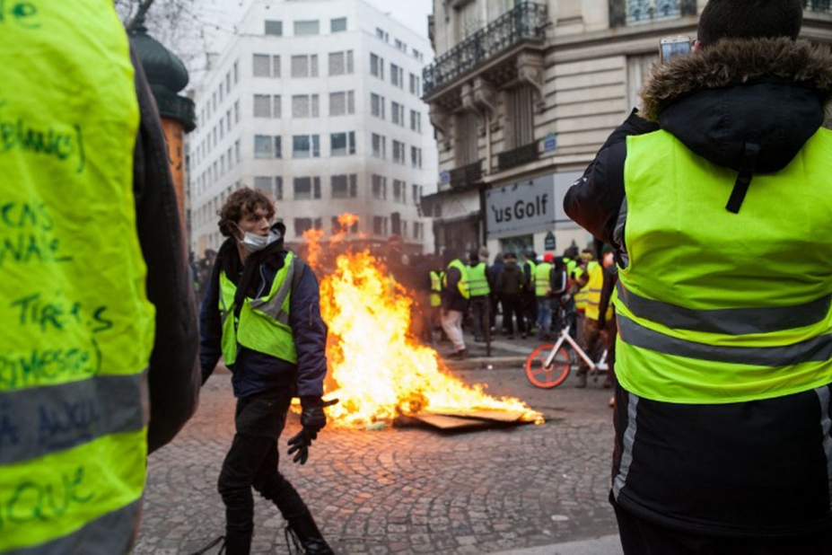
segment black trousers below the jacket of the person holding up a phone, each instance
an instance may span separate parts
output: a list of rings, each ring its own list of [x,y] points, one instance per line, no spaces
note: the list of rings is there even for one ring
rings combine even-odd
[[[679,532],[652,524],[619,507],[618,534],[625,555],[829,555],[832,531],[804,533],[790,537],[714,538]]]

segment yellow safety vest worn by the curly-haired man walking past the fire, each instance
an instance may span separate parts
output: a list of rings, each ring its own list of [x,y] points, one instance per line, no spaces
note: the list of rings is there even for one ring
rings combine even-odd
[[[294,276],[303,271],[303,263],[292,252],[286,253],[283,268],[272,282],[266,296],[246,297],[235,316],[237,286],[224,271],[220,272],[220,315],[223,320],[223,359],[226,365],[237,360],[240,347],[297,363],[294,335],[289,325],[289,305]]]

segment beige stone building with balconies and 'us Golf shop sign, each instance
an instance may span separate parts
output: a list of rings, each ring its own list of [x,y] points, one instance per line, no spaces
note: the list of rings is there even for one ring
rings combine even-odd
[[[591,237],[566,189],[639,103],[659,40],[696,39],[706,0],[434,0],[424,73],[439,140],[436,247],[561,252]],[[828,0],[804,0],[802,36],[832,41]]]

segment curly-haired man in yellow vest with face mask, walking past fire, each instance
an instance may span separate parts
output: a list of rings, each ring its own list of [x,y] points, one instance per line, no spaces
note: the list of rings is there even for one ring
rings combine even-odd
[[[289,439],[294,463],[327,418],[321,401],[327,374],[327,326],[320,317],[318,280],[284,249],[285,226],[272,225],[272,200],[237,189],[220,209],[227,237],[200,309],[203,381],[222,355],[237,397],[236,434],[220,471],[225,504],[225,552],[248,554],[254,529],[251,489],[275,504],[306,553],[332,553],[309,509],[278,471],[277,440],[293,396],[301,398],[301,431]]]

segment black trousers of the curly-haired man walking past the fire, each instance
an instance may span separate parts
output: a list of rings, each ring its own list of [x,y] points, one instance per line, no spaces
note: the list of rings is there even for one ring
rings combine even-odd
[[[288,521],[309,509],[288,480],[277,471],[277,439],[283,431],[292,396],[281,392],[252,395],[237,401],[237,434],[225,455],[217,489],[225,504],[225,534],[250,536],[254,529],[254,488],[274,503]]]

